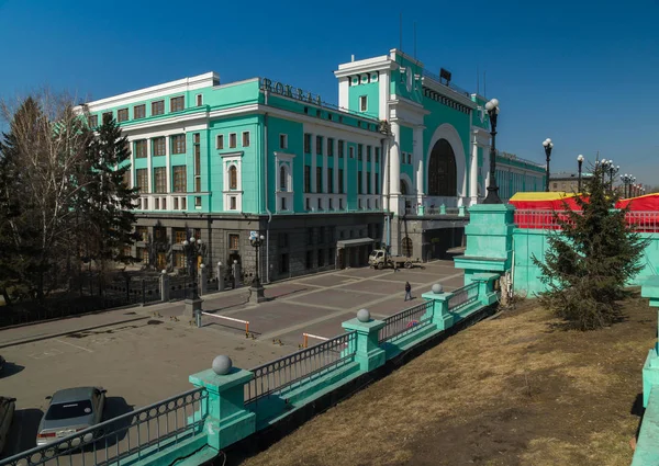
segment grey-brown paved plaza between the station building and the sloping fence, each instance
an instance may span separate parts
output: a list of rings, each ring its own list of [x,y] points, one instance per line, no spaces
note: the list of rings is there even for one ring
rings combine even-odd
[[[411,303],[403,300],[407,281]],[[191,388],[188,376],[209,368],[217,354],[230,355],[238,367],[255,367],[298,351],[304,332],[342,333],[340,323],[360,308],[384,318],[418,304],[434,283],[458,288],[462,272],[451,261],[399,272],[348,269],[268,285],[268,302],[259,305],[248,303],[247,287],[204,297],[204,311],[249,321],[248,339],[244,325],[213,316],[194,327],[181,317],[181,302],[0,330],[0,354],[10,363],[0,396],[16,398],[9,444],[34,446],[45,397],[58,389],[102,386],[107,417],[119,416]]]

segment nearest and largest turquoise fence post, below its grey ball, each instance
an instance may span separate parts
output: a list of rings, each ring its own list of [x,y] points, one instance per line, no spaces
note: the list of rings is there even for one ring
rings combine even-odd
[[[211,447],[222,450],[256,431],[256,414],[244,407],[245,384],[253,378],[254,373],[237,367],[225,375],[206,370],[190,376],[192,385],[209,394],[204,431]]]

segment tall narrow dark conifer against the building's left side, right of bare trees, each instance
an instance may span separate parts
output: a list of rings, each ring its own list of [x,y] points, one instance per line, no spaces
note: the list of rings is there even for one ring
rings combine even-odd
[[[130,261],[124,248],[133,245],[133,208],[137,190],[125,179],[131,170],[129,141],[113,118],[104,118],[90,150],[92,183],[88,187],[90,255],[104,270],[110,261]]]

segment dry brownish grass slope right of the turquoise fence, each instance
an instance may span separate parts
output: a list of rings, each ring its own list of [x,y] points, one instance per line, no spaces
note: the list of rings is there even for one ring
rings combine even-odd
[[[597,332],[528,300],[480,322],[245,462],[269,465],[629,464],[656,315],[639,298]]]

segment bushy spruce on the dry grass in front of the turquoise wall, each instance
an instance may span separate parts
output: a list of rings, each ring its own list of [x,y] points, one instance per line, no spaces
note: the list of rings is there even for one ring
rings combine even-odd
[[[604,169],[595,166],[578,197],[581,212],[554,213],[561,227],[551,232],[545,260],[535,255],[540,281],[547,291],[540,302],[570,328],[592,330],[621,318],[616,303],[624,287],[640,270],[639,260],[647,246],[625,220],[628,207],[615,209],[618,195],[608,190]]]

